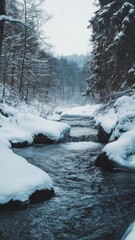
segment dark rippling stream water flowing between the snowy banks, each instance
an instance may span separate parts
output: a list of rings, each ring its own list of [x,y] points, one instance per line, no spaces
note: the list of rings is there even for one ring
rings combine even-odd
[[[135,220],[135,174],[98,169],[92,122],[69,123],[69,142],[15,150],[52,177],[56,196],[0,212],[0,240],[120,240]]]

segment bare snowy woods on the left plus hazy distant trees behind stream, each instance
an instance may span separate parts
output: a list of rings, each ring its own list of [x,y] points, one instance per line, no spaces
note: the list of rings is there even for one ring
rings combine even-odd
[[[53,55],[42,30],[51,18],[43,2],[0,3],[1,102],[79,102],[85,92],[89,57]]]

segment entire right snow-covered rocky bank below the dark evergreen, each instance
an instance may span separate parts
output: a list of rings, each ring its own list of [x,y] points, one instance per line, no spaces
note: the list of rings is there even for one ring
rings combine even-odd
[[[118,98],[114,107],[96,120],[110,133],[110,143],[103,148],[97,165],[108,160],[114,168],[135,170],[135,96]]]

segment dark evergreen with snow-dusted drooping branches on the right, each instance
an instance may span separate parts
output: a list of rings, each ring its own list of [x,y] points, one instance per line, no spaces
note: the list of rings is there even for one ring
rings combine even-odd
[[[90,21],[93,28],[93,75],[87,93],[101,99],[117,97],[135,84],[135,2],[99,0],[100,9]]]

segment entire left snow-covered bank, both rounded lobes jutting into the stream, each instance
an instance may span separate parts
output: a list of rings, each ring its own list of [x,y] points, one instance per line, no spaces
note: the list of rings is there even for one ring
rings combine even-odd
[[[58,142],[70,126],[1,105],[0,209],[14,204],[47,200],[54,194],[52,180],[41,169],[16,155],[11,146]],[[18,145],[19,144],[19,145]],[[39,197],[40,196],[40,197]]]

